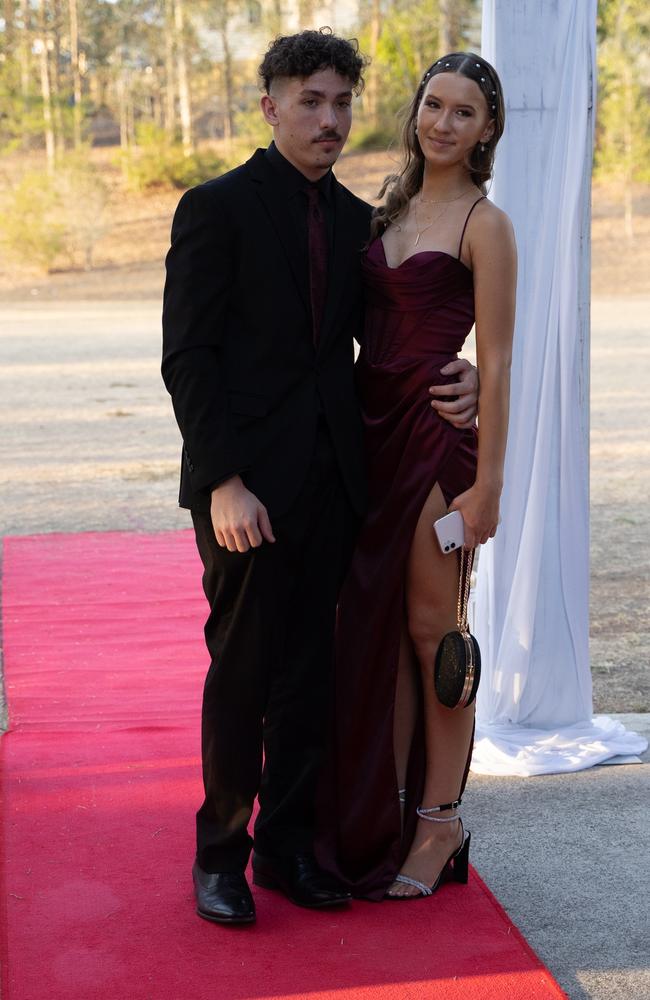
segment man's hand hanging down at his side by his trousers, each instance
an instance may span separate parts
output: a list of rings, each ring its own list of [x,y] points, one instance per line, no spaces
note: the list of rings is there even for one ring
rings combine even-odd
[[[212,491],[210,516],[218,544],[229,552],[248,552],[261,545],[262,539],[275,541],[266,507],[239,476]]]

